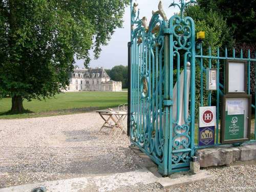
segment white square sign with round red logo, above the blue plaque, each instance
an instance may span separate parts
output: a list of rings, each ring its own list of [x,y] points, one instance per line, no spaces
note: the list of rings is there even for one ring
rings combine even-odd
[[[216,106],[201,106],[199,108],[199,127],[215,126]]]

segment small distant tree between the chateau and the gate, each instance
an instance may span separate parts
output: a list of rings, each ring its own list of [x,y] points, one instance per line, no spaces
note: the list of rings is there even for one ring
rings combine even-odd
[[[128,88],[128,66],[115,66],[107,73],[112,80],[122,81],[122,88]]]

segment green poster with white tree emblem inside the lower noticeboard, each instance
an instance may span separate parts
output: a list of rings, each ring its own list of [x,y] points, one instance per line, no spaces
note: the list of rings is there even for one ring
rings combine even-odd
[[[244,138],[244,114],[228,115],[225,112],[225,140]]]

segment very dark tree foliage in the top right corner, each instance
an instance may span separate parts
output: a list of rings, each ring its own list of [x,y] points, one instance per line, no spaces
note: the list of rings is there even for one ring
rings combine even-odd
[[[256,41],[256,0],[198,0],[201,8],[216,11],[227,20],[238,44]]]

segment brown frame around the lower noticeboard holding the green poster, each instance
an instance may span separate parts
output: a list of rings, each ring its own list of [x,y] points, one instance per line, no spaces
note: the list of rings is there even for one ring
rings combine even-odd
[[[237,98],[237,99],[247,99],[248,104],[246,106],[246,114],[244,115],[244,122],[247,120],[247,134],[245,134],[244,138],[242,139],[232,139],[227,140],[225,139],[225,133],[227,130],[225,130],[225,120],[226,120],[226,101],[228,99]],[[222,108],[222,115],[221,115],[221,133],[220,133],[220,142],[223,144],[231,144],[231,143],[242,143],[245,141],[250,140],[250,126],[251,126],[251,95],[245,95],[245,94],[230,94],[230,95],[224,95],[222,99],[223,108]],[[245,125],[244,125],[245,126]]]

